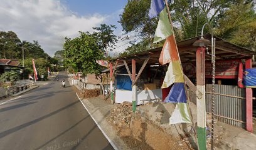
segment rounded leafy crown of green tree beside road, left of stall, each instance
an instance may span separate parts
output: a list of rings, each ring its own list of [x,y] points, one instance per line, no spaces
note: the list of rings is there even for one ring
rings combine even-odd
[[[99,73],[100,66],[96,60],[102,59],[103,52],[99,49],[97,38],[88,32],[79,32],[80,36],[65,38],[63,46],[65,65],[71,66],[75,72],[83,74]]]

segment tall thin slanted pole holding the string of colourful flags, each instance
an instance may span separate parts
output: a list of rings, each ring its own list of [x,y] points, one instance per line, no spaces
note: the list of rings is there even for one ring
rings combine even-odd
[[[175,34],[174,34],[173,21],[171,21],[171,14],[170,14],[169,6],[168,6],[168,1],[165,0],[165,3],[166,3],[167,12],[168,12],[169,22],[171,24],[171,30],[173,31],[175,46],[176,46],[177,53],[178,53],[178,56],[179,56],[178,46],[177,46],[177,42],[176,42],[176,38],[175,38]],[[179,57],[179,62],[180,62],[180,65],[181,65],[181,58],[180,57]],[[181,66],[181,70],[182,70],[183,79],[184,79],[184,72],[183,72],[182,66]],[[189,98],[188,98],[188,89],[186,88],[186,81],[185,80],[184,80],[184,88],[185,88],[185,91],[186,91],[186,98],[188,99],[188,107],[189,107],[189,111],[190,111],[189,114],[191,116],[191,122],[192,122],[193,130],[194,130],[194,133],[195,133],[196,146],[198,146],[197,133],[196,133],[196,129],[195,129],[194,119],[193,119],[193,116],[192,116],[192,111],[191,111],[191,108],[189,106],[190,101],[189,101]],[[199,149],[199,147],[198,147],[198,149]]]

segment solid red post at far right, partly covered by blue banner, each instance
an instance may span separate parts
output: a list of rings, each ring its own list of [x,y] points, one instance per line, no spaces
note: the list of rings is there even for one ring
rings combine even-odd
[[[252,68],[252,59],[245,61],[245,69]],[[252,88],[246,89],[246,129],[252,133]]]

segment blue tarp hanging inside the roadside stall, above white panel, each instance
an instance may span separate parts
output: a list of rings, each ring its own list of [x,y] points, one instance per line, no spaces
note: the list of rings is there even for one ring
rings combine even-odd
[[[117,74],[117,89],[132,91],[132,81],[130,77]]]

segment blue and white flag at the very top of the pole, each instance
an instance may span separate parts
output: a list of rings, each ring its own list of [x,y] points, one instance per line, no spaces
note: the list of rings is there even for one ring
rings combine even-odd
[[[163,0],[151,0],[151,6],[149,9],[149,19],[156,17],[164,9]]]

